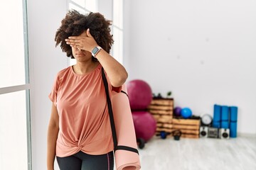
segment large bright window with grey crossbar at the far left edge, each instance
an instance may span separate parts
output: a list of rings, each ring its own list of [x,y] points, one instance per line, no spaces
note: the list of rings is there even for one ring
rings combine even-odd
[[[1,3],[0,169],[32,169],[26,17],[26,0]]]

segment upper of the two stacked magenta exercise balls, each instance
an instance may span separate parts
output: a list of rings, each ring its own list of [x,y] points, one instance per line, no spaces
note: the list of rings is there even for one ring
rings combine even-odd
[[[127,92],[132,110],[144,110],[151,103],[152,91],[146,81],[139,79],[129,81]]]

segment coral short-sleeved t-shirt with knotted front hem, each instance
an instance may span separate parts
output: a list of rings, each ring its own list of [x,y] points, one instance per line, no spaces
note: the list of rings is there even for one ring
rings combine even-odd
[[[68,157],[79,151],[87,154],[106,154],[113,150],[110,117],[102,66],[85,75],[73,72],[73,67],[58,72],[49,94],[59,115],[56,155]],[[107,78],[109,91],[113,88]],[[112,98],[112,93],[110,93]]]

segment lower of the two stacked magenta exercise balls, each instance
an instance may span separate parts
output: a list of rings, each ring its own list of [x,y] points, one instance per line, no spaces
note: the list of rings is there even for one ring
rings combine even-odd
[[[137,139],[151,139],[156,132],[156,120],[146,111],[133,111],[132,118]]]

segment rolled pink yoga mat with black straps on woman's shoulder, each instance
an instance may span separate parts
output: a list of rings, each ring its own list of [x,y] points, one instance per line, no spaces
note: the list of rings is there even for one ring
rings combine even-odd
[[[125,85],[122,91],[127,93]],[[132,112],[129,106],[129,98],[126,94],[112,91],[112,110],[114,123],[117,132],[117,145],[132,147],[137,149],[137,140],[132,120]],[[115,166],[117,170],[137,170],[141,169],[139,154],[127,150],[117,149],[114,153]]]

